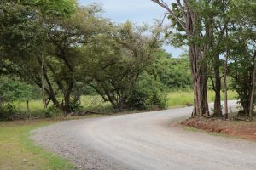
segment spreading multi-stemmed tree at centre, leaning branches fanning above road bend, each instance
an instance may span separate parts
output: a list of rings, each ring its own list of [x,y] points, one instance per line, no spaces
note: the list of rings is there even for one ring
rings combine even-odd
[[[154,51],[159,48],[158,35],[146,37],[145,27],[135,29],[131,22],[105,27],[105,34],[94,37],[94,43],[84,46],[85,83],[89,83],[104,101],[116,110],[131,107],[131,90],[138,78],[152,65]],[[84,69],[85,68],[85,69]]]

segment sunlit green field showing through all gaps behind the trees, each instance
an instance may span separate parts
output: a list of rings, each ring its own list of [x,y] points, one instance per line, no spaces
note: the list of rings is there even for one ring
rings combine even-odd
[[[224,93],[222,93],[222,99],[224,99]],[[229,91],[228,99],[235,99],[236,92]],[[193,92],[170,92],[167,94],[167,106],[168,108],[183,107],[186,104],[193,104]],[[208,101],[214,101],[214,92],[208,91]],[[14,102],[15,106],[21,110],[26,111],[26,102]],[[100,96],[82,96],[81,105],[85,109],[96,110],[96,111],[111,111],[111,105],[109,102],[103,102]],[[31,111],[43,110],[44,106],[41,100],[30,101]]]

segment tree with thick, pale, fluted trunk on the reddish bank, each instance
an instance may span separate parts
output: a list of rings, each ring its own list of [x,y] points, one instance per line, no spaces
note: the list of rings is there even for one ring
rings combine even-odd
[[[207,1],[177,0],[172,7],[164,1],[152,0],[166,9],[168,17],[172,20],[172,26],[176,28],[180,39],[189,45],[189,60],[194,88],[193,116],[209,115],[207,103],[207,53],[211,46],[212,23],[203,18],[200,8],[210,5]]]

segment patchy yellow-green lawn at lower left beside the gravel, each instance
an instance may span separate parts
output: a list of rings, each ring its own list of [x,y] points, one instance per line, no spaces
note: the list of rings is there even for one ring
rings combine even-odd
[[[53,121],[0,122],[0,170],[73,169],[67,160],[42,150],[29,139],[31,130],[50,123]]]

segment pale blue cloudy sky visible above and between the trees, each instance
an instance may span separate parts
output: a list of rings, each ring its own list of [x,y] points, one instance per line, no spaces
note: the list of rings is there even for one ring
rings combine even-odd
[[[147,23],[154,24],[154,20],[161,20],[164,16],[165,9],[160,8],[150,0],[79,0],[81,5],[90,5],[97,3],[102,6],[102,16],[120,23],[131,20],[137,25]],[[167,45],[166,51],[177,57],[183,53],[182,49],[173,48]]]

